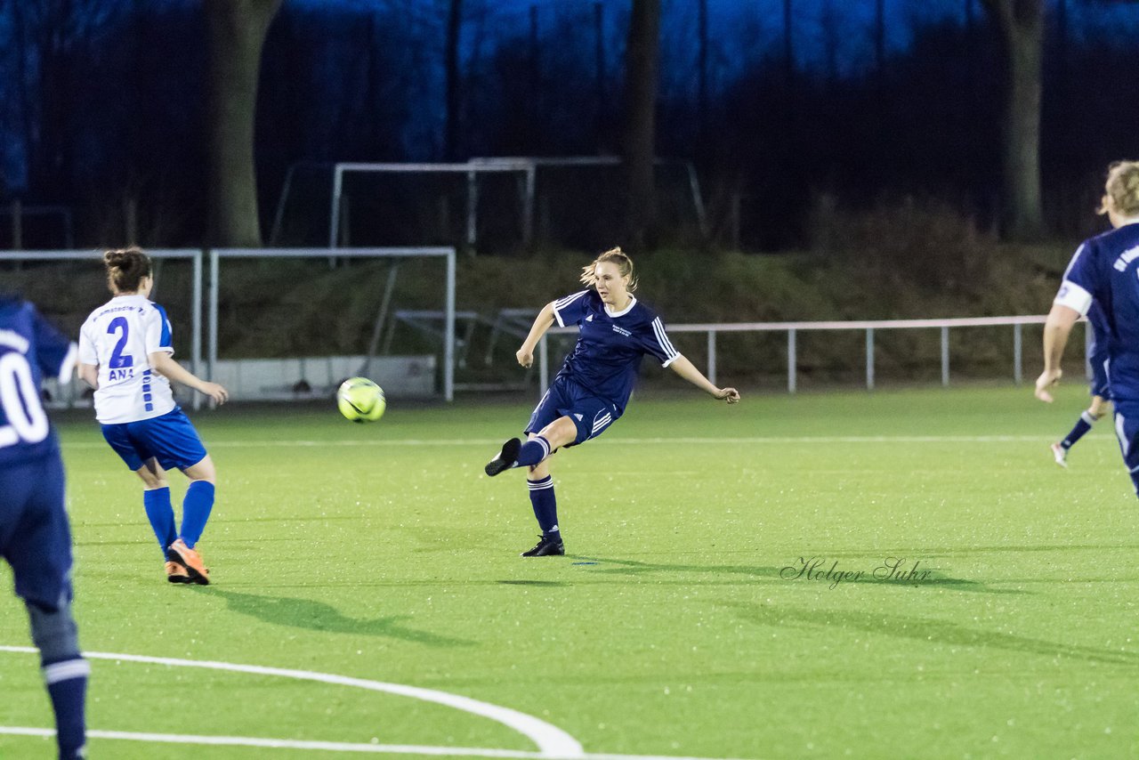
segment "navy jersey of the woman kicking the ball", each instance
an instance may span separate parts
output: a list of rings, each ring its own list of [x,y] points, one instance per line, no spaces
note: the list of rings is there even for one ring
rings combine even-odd
[[[630,296],[631,297],[631,296]],[[558,325],[577,325],[577,344],[558,377],[568,377],[623,412],[637,384],[641,358],[653,354],[665,367],[680,358],[656,313],[632,299],[611,312],[597,291],[581,291],[554,302]]]

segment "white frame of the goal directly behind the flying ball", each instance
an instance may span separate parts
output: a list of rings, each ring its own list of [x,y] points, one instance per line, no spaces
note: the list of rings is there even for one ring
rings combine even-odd
[[[379,248],[336,248],[335,252],[328,248],[211,248],[210,258],[210,287],[207,297],[207,374],[211,379],[216,379],[219,368],[218,360],[218,326],[219,326],[219,300],[221,291],[221,278],[223,277],[221,260],[238,259],[321,259],[327,260],[334,253],[337,260],[345,259],[392,259],[394,262],[407,259],[442,259],[445,267],[443,279],[443,348],[442,348],[442,393],[446,401],[454,400],[454,291],[456,291],[456,251],[452,246],[424,246],[424,247],[379,247]],[[391,287],[391,286],[390,286]],[[386,308],[387,297],[384,299]],[[374,343],[374,342],[372,342]],[[374,353],[374,344],[369,346],[369,354]],[[374,356],[368,356],[370,361]]]

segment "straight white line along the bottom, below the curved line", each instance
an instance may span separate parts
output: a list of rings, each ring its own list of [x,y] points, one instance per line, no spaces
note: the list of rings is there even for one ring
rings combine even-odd
[[[51,728],[0,726],[0,735],[56,735]],[[165,744],[202,744],[207,746],[257,746],[272,750],[318,750],[325,752],[360,752],[371,754],[426,754],[470,758],[523,758],[525,760],[715,760],[656,754],[542,754],[521,750],[490,750],[473,746],[425,746],[421,744],[352,744],[349,742],[305,742],[301,739],[257,738],[254,736],[196,736],[194,734],[137,734],[132,732],[89,730],[88,738],[155,742]]]

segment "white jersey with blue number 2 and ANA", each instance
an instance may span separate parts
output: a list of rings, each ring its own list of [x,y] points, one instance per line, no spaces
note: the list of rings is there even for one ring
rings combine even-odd
[[[115,296],[91,312],[79,335],[79,360],[99,366],[95,416],[104,425],[159,417],[177,404],[150,354],[174,353],[166,311],[141,295]]]

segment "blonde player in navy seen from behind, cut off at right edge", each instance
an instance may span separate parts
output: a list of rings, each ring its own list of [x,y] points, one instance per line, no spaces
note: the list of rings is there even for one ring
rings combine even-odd
[[[1084,240],[1064,272],[1044,324],[1044,371],[1035,395],[1051,402],[1060,358],[1072,326],[1092,304],[1107,333],[1105,375],[1115,408],[1115,433],[1139,495],[1139,162],[1120,161],[1107,171],[1100,214],[1112,230]]]

